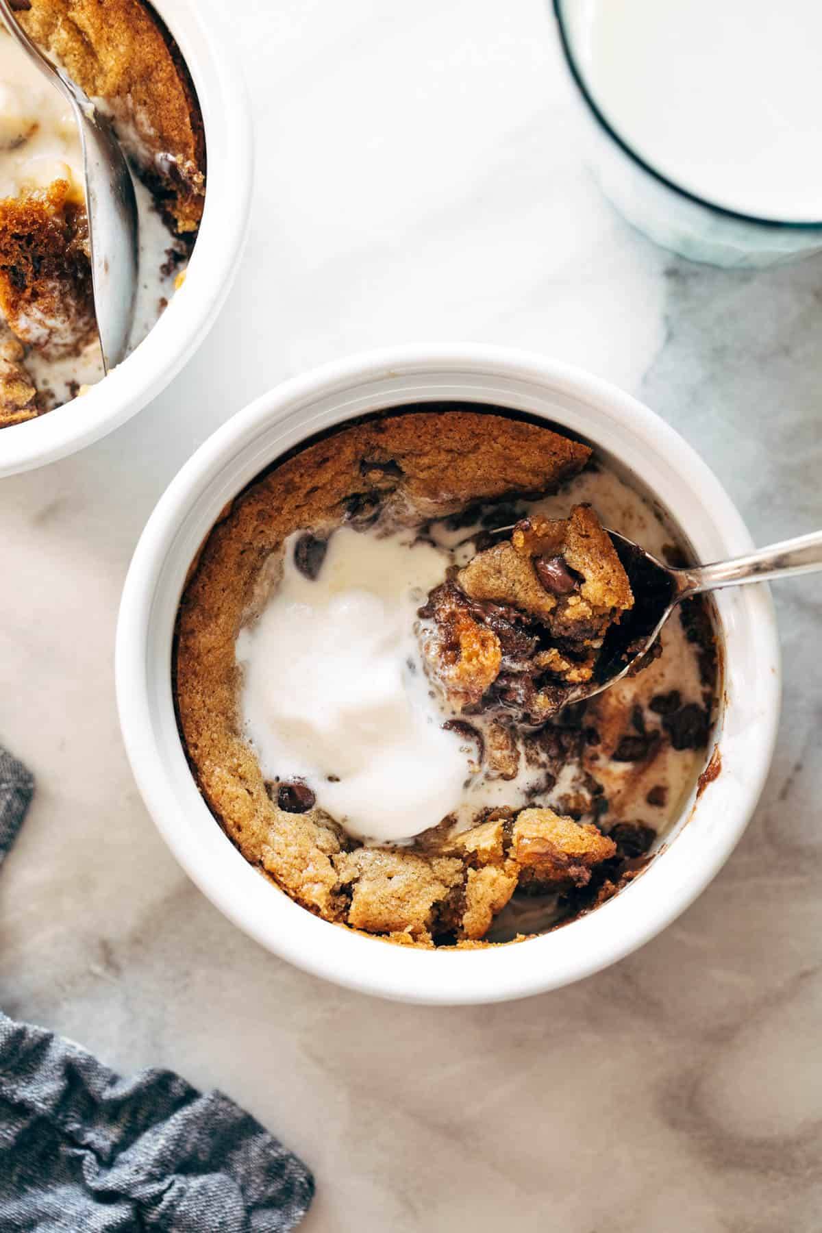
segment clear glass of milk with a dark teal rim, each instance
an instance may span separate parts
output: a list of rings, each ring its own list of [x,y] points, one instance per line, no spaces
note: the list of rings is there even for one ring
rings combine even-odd
[[[589,162],[694,261],[822,250],[822,0],[553,0]]]

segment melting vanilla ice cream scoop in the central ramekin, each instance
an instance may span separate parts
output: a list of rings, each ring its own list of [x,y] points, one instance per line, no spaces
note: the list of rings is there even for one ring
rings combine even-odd
[[[343,526],[315,581],[282,581],[240,631],[242,710],[269,779],[304,779],[351,835],[397,842],[460,804],[468,776],[423,672],[414,621],[447,557],[413,533]]]

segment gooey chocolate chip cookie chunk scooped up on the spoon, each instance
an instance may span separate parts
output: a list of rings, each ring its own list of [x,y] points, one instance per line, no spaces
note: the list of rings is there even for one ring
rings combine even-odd
[[[568,687],[590,681],[605,633],[632,604],[610,536],[576,506],[567,519],[523,519],[436,587],[419,612],[420,647],[455,710],[504,708],[541,724]]]

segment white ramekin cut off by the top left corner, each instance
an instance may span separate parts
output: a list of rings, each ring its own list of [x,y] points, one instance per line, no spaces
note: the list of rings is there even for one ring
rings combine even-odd
[[[206,131],[206,206],[186,281],[148,337],[105,381],[47,416],[0,432],[0,478],[74,454],[145,407],[208,333],[237,272],[253,180],[245,85],[230,38],[211,6],[196,0],[152,2],[189,65]]]

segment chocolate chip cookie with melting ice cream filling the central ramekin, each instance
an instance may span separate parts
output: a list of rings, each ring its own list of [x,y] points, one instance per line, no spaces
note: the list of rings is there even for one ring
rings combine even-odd
[[[550,927],[630,880],[699,772],[714,678],[670,623],[645,673],[563,707],[633,603],[603,530],[626,512],[670,539],[588,445],[447,404],[333,430],[240,493],[174,671],[245,858],[329,921],[425,947]],[[653,709],[674,689],[670,715],[704,716],[686,751]]]

